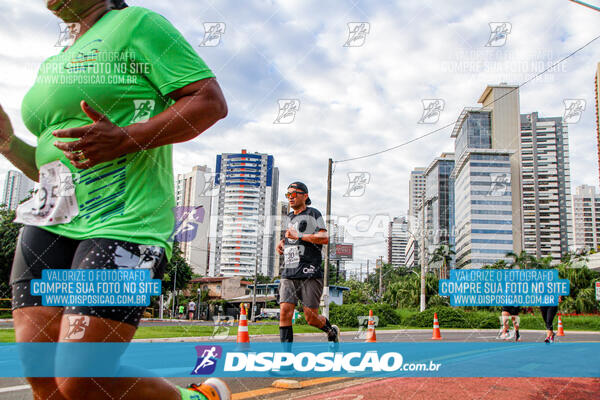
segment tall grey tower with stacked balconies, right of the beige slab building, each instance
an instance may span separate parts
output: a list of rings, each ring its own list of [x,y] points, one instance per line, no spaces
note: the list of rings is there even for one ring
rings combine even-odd
[[[521,115],[523,249],[555,263],[573,241],[567,132],[562,117]]]

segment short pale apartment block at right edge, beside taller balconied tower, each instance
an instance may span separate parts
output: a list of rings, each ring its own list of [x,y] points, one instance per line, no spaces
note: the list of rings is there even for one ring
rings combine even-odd
[[[573,250],[600,246],[600,196],[594,186],[581,185],[573,195]]]

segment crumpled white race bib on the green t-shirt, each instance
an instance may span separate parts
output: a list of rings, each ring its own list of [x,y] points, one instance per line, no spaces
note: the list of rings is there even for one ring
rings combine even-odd
[[[48,226],[70,222],[79,214],[73,174],[60,161],[40,168],[40,182],[33,196],[17,208],[14,222]]]

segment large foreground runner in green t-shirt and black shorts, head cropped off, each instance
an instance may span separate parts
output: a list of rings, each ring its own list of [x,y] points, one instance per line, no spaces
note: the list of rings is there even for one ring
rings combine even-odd
[[[14,136],[0,107],[0,152],[39,180],[17,210],[25,227],[10,279],[16,338],[128,342],[145,307],[46,307],[30,282],[43,269],[65,268],[147,268],[161,279],[172,252],[172,144],[224,118],[227,105],[214,74],[161,15],[122,0],[48,0],[47,7],[71,25],[65,47],[41,65],[23,99],[37,146]],[[90,390],[111,398],[229,398],[214,379],[193,391],[155,378],[28,380],[44,399]]]

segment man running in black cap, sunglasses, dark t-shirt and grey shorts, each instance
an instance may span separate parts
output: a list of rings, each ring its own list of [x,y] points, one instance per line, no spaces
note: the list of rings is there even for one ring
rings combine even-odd
[[[323,294],[323,269],[321,249],[329,243],[327,229],[321,213],[312,207],[308,188],[302,182],[288,186],[285,194],[292,212],[287,215],[285,238],[277,245],[277,252],[284,255],[284,267],[279,283],[279,336],[286,351],[294,341],[292,318],[298,300],[304,306],[304,317],[309,325],[327,334],[330,342],[339,341],[339,328],[319,315],[319,303]]]

